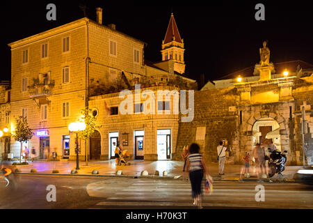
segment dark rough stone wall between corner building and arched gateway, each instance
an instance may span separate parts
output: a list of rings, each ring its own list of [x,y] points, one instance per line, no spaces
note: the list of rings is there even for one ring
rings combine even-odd
[[[177,147],[173,159],[181,160],[181,153],[185,145],[198,143],[204,157],[209,162],[217,162],[217,151],[221,140],[227,141],[230,148],[230,159],[238,159],[238,113],[236,105],[239,95],[236,89],[218,89],[209,91],[195,91],[195,117],[191,123],[179,123]],[[205,140],[196,140],[197,128],[205,127]]]

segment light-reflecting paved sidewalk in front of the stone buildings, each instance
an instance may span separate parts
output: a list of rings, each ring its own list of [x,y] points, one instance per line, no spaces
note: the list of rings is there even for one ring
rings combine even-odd
[[[3,162],[3,164],[10,165],[13,162]],[[183,172],[184,162],[182,161],[129,161],[129,166],[115,167],[115,160],[111,161],[95,161],[79,162],[79,176],[92,176],[93,170],[98,170],[98,176],[116,176],[117,170],[122,170],[123,176],[140,177],[141,171],[148,171],[150,177],[154,176],[155,171],[159,171],[159,176],[163,176],[163,171],[167,172],[167,178],[179,178],[182,180],[188,179],[188,173]],[[226,164],[225,165],[225,175],[218,175],[218,164],[217,163],[207,163],[209,169],[209,174],[214,178],[214,180],[232,180],[238,181],[243,176],[241,176],[241,171],[243,166],[236,164]],[[283,172],[284,176],[274,176],[272,178],[273,182],[294,182],[293,176],[298,169],[301,167],[287,167]],[[17,166],[23,174],[29,174],[31,169],[36,169],[38,174],[52,174],[54,169],[59,171],[59,174],[54,175],[69,175],[72,169],[76,169],[75,161],[35,161],[29,162],[29,165],[24,167]],[[250,178],[243,179],[243,181],[257,181],[257,174],[254,173],[254,167],[250,167]]]

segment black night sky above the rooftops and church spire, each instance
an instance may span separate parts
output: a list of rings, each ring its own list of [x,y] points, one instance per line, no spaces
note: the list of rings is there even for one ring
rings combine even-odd
[[[103,24],[143,40],[145,59],[161,61],[161,43],[173,12],[184,38],[186,72],[192,79],[218,79],[259,63],[259,48],[268,40],[271,61],[303,60],[313,63],[313,8],[310,1],[218,1],[206,6],[108,5],[109,1],[6,1],[1,6],[1,79],[10,79],[8,43],[61,26],[87,15],[96,20],[95,8],[104,9]],[[151,1],[148,1],[149,3]],[[56,21],[46,20],[46,6],[56,4]],[[127,3],[131,3],[128,1]],[[136,1],[136,3],[139,3]],[[168,1],[168,4],[171,2]],[[266,21],[255,20],[255,5],[264,3]]]

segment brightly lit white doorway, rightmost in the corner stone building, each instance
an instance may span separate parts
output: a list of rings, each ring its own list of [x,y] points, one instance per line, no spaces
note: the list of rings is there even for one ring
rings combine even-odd
[[[157,130],[158,160],[170,160],[172,154],[171,131]]]

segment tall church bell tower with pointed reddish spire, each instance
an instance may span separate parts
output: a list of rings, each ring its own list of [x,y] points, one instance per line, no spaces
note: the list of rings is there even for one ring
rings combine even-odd
[[[179,74],[185,72],[184,62],[184,39],[179,35],[177,24],[174,19],[174,15],[170,16],[170,24],[168,24],[168,30],[166,31],[166,37],[162,42],[162,61],[174,62],[174,71]]]

